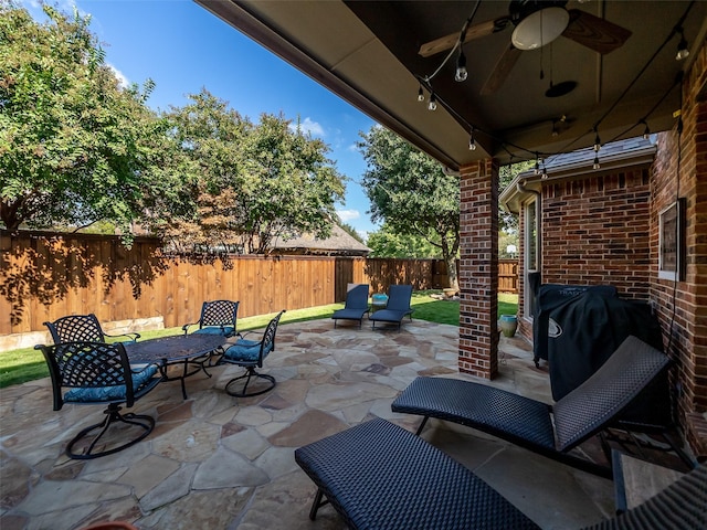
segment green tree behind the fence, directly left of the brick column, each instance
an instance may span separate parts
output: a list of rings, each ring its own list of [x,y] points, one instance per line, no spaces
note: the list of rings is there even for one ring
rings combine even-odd
[[[450,287],[458,288],[455,258],[460,247],[460,177],[380,126],[361,132],[359,148],[368,162],[362,179],[373,221],[437,247],[446,262]]]

